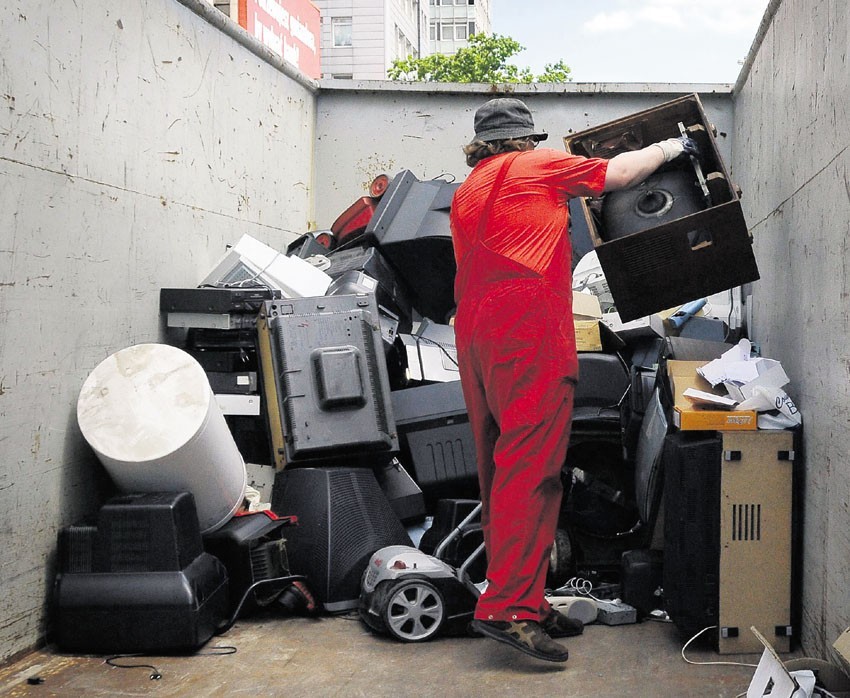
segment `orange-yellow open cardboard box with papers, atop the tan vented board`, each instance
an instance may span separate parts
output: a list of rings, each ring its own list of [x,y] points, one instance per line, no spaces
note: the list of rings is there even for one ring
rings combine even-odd
[[[673,393],[673,425],[683,431],[750,431],[758,428],[754,410],[717,410],[694,405],[684,396],[688,388],[720,395],[697,368],[705,361],[668,361],[667,375]]]

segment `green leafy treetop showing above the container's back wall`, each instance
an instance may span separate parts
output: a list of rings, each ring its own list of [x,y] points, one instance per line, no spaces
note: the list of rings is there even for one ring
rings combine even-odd
[[[530,83],[569,82],[570,67],[564,61],[547,63],[540,75],[530,68],[508,63],[524,46],[509,36],[473,34],[469,45],[453,56],[435,53],[423,58],[397,58],[387,70],[390,80],[418,82]]]

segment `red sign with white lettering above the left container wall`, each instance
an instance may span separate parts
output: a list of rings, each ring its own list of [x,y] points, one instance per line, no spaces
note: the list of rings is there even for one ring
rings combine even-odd
[[[322,76],[321,19],[310,0],[239,0],[239,24],[304,75]]]

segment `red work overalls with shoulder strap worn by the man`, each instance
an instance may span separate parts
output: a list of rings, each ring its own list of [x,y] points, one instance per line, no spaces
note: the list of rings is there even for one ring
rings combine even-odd
[[[494,189],[513,158],[505,156]],[[570,246],[565,233],[542,275],[488,249],[481,238],[495,198],[458,260],[455,283],[455,336],[488,556],[488,586],[475,617],[539,620],[549,609],[544,587],[578,370]]]

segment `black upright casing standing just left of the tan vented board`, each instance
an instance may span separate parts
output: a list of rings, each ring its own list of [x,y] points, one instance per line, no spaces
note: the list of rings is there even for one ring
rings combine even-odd
[[[664,444],[664,597],[682,637],[718,622],[721,452],[716,432]]]

